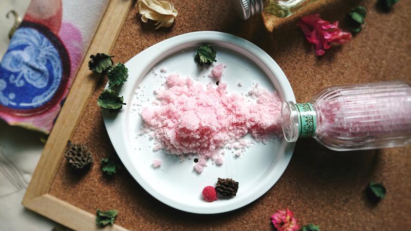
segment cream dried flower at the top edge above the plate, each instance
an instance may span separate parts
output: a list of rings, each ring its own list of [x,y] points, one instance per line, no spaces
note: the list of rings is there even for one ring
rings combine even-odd
[[[174,23],[174,18],[178,12],[174,9],[174,5],[169,1],[161,0],[138,0],[139,13],[141,21],[147,22],[147,19],[157,21],[157,27],[171,27]]]

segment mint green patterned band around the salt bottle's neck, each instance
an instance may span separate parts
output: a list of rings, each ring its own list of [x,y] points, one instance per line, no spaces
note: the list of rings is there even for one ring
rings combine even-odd
[[[298,137],[313,137],[315,134],[315,110],[310,103],[295,104],[298,111],[300,131]]]

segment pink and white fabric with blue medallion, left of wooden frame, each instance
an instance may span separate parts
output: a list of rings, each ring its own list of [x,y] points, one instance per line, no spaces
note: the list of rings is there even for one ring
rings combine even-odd
[[[49,133],[109,0],[32,0],[0,65],[0,118]]]

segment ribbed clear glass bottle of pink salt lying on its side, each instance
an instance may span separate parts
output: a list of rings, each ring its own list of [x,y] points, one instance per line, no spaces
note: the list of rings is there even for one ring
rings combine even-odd
[[[337,151],[411,144],[411,86],[379,82],[325,88],[308,103],[284,102],[288,142],[313,137]]]

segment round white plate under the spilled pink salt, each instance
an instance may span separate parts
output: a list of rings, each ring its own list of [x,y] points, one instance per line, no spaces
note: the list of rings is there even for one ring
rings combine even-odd
[[[248,92],[251,85],[258,82],[268,90],[276,90],[283,100],[295,102],[286,76],[267,53],[240,37],[201,31],[170,38],[130,59],[125,64],[129,71],[128,81],[120,90],[127,105],[119,113],[110,114],[104,110],[103,117],[118,156],[146,191],[180,210],[216,214],[245,206],[270,189],[286,169],[294,144],[284,139],[256,143],[239,158],[227,150],[222,165],[214,165],[209,160],[208,167],[197,174],[193,170],[194,158],[180,162],[178,157],[165,155],[162,150],[154,152],[154,141],[138,136],[143,126],[139,114],[141,108],[151,105],[155,99],[153,91],[161,87],[164,76],[179,73],[202,83],[214,82],[207,76],[212,66],[199,67],[193,60],[194,48],[204,43],[217,51],[218,63],[227,65],[221,81],[228,84],[229,91]],[[161,72],[161,67],[167,72]],[[239,81],[242,87],[237,86]],[[162,160],[161,168],[151,166],[156,158]],[[212,203],[204,201],[201,196],[203,187],[215,185],[218,177],[238,181],[237,196]]]

